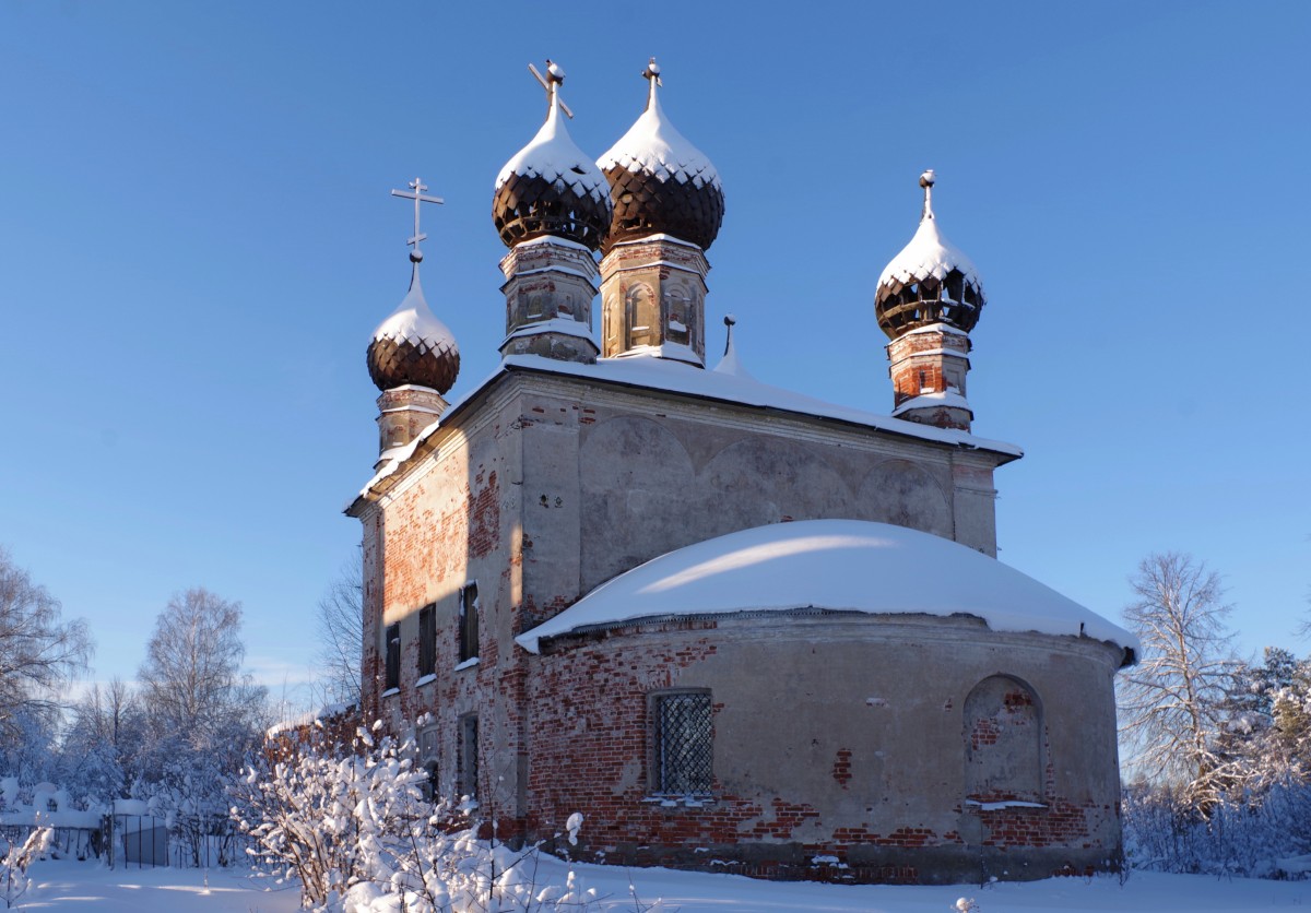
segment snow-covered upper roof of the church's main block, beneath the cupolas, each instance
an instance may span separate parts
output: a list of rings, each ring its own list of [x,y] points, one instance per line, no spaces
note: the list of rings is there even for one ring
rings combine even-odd
[[[929,424],[920,424],[907,419],[893,418],[868,413],[861,409],[839,406],[823,400],[815,400],[801,393],[784,390],[779,386],[763,384],[750,375],[738,371],[705,371],[683,362],[663,358],[603,358],[595,364],[582,364],[578,362],[562,362],[560,359],[543,358],[540,355],[510,355],[501,360],[499,367],[493,371],[481,384],[468,393],[454,400],[438,422],[434,422],[421,431],[414,440],[400,448],[395,458],[384,464],[371,479],[361,489],[358,498],[367,498],[374,486],[400,470],[405,462],[414,456],[416,451],[423,445],[429,438],[437,434],[442,422],[458,413],[460,407],[481,393],[497,377],[511,371],[536,371],[548,375],[565,375],[595,380],[624,386],[636,386],[666,393],[680,393],[684,396],[718,400],[743,406],[756,406],[762,409],[777,409],[801,415],[835,419],[863,424],[907,438],[919,438],[950,447],[965,447],[1017,460],[1024,456],[1024,451],[1015,444],[1007,444],[987,438],[975,438],[968,431],[956,428],[937,428]],[[353,498],[346,510],[349,511],[357,498]]]

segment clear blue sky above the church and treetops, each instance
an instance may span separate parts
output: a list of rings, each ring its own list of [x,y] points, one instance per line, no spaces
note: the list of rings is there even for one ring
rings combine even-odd
[[[750,9],[750,12],[747,12]],[[131,677],[157,612],[240,600],[277,689],[358,540],[376,456],[364,346],[409,278],[455,393],[503,333],[492,182],[569,72],[600,155],[665,107],[718,166],[712,345],[764,381],[886,411],[882,266],[937,169],[988,305],[970,400],[1003,561],[1118,618],[1193,553],[1236,646],[1311,587],[1311,4],[0,1],[0,542]]]

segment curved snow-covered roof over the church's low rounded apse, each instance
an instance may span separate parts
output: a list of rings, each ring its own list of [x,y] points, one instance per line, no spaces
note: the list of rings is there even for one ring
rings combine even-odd
[[[857,572],[859,568],[859,572]],[[863,520],[805,520],[729,533],[654,558],[603,583],[515,641],[670,616],[788,609],[968,614],[994,631],[1138,638],[1007,567],[939,536]]]

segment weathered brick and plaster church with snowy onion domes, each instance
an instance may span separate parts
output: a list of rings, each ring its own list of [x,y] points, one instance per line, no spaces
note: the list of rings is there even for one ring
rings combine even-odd
[[[505,338],[476,386],[420,282],[431,198],[393,191],[416,207],[410,286],[368,345],[379,458],[347,508],[366,719],[413,731],[435,790],[501,836],[549,848],[581,812],[558,849],[589,861],[1116,867],[1113,679],[1138,644],[996,561],[994,472],[1021,451],[971,430],[986,299],[933,173],[869,289],[891,413],[763,384],[732,318],[707,354],[724,189],[645,76],[599,160],[569,136],[562,71],[539,77],[545,123],[496,179]]]

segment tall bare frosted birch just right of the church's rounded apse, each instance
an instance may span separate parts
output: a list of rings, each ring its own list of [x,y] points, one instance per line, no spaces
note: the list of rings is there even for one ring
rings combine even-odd
[[[1143,559],[1129,583],[1138,599],[1125,620],[1143,647],[1120,689],[1130,762],[1205,816],[1238,777],[1215,751],[1236,668],[1224,625],[1232,606],[1218,574],[1173,551]]]

